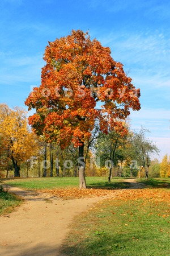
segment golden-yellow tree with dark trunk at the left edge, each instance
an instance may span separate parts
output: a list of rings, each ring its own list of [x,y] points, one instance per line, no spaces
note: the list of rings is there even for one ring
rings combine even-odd
[[[37,150],[35,135],[29,130],[27,112],[23,108],[10,109],[0,104],[0,137],[6,147],[6,154],[12,161],[14,176],[20,176],[20,164]]]

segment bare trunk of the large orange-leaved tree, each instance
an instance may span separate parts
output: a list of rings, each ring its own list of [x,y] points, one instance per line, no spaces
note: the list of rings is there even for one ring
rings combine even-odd
[[[85,179],[85,163],[84,163],[84,143],[82,146],[79,146],[79,189],[86,188],[86,179]]]

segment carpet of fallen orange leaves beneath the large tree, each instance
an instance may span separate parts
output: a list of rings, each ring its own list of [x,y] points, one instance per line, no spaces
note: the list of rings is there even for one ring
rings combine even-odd
[[[54,196],[67,199],[81,199],[85,197],[108,197],[109,200],[121,200],[129,204],[138,204],[143,201],[143,205],[151,204],[151,207],[159,203],[168,203],[170,201],[170,192],[168,189],[95,189],[88,188],[79,190],[78,188],[57,188],[57,189],[42,189],[41,192],[51,193]],[[169,205],[170,206],[170,205]],[[170,216],[170,212],[164,213],[165,216]],[[164,217],[165,217],[164,216]]]

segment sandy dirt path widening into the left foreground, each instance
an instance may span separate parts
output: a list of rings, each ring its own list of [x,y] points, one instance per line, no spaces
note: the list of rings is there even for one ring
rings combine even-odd
[[[135,179],[131,188],[142,188]],[[114,191],[113,197],[125,189]],[[0,255],[62,256],[59,249],[73,218],[106,197],[62,200],[47,193],[10,187],[25,202],[15,212],[0,217]],[[108,197],[111,197],[109,194]]]

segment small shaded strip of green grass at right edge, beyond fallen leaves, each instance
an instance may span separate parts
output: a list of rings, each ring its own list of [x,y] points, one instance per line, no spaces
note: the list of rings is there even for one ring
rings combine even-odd
[[[146,188],[170,188],[169,178],[152,178],[148,180],[142,178],[137,179],[137,181],[145,184]]]

